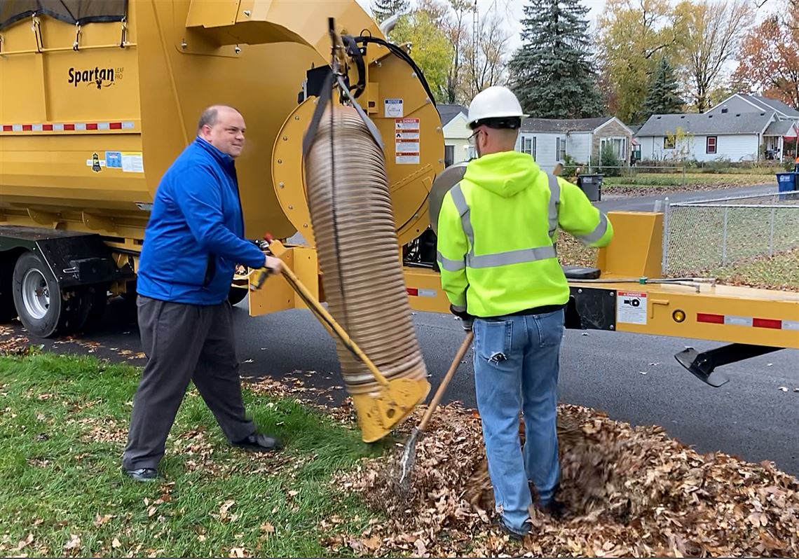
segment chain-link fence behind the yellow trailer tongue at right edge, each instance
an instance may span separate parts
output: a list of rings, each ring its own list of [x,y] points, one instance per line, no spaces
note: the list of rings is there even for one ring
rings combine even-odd
[[[665,204],[664,276],[699,276],[799,248],[799,191]]]

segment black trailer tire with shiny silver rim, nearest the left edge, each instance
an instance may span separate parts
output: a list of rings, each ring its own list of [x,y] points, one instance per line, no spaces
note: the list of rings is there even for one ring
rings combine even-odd
[[[75,326],[81,298],[62,293],[47,264],[34,252],[23,252],[14,264],[14,307],[30,335],[50,338]]]

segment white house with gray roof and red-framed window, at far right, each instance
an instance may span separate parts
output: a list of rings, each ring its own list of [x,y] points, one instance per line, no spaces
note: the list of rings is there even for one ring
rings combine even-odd
[[[643,160],[757,161],[763,146],[781,145],[788,127],[793,121],[778,121],[773,110],[654,114],[636,140]]]

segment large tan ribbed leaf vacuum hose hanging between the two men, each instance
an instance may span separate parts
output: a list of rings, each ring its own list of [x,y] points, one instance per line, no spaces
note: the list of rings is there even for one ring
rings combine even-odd
[[[407,300],[384,154],[350,106],[335,105],[331,114],[328,105],[312,133],[305,184],[328,310],[390,383],[415,381],[421,397],[407,415],[430,385]],[[336,352],[361,428],[372,429],[370,400],[381,387],[337,338]]]

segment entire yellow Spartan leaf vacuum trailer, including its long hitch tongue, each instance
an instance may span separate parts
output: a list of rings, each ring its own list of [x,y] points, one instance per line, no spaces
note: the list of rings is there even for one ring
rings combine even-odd
[[[214,103],[248,123],[237,160],[246,236],[300,232],[308,245],[282,257],[324,300],[302,141],[328,72],[328,18],[352,46],[352,92],[385,140],[411,307],[447,312],[430,225],[458,169],[442,172],[423,73],[354,0],[77,2],[77,14],[53,5],[6,0],[0,10],[0,319],[56,335],[96,320],[109,292],[130,292],[158,181]],[[799,295],[658,280],[662,215],[610,220],[616,236],[597,268],[569,271],[568,327],[727,342],[678,354],[714,384],[719,364],[799,348]],[[251,292],[251,315],[304,307],[269,281]],[[247,293],[248,280],[237,283],[234,300]]]

